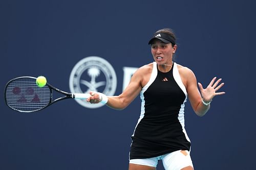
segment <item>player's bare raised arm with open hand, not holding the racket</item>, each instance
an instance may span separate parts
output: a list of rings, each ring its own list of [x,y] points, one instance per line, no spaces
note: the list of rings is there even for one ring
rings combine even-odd
[[[217,92],[224,85],[224,83],[219,84],[222,79],[217,80],[216,77],[213,78],[206,88],[203,88],[202,84],[198,83],[200,93],[197,87],[197,79],[193,71],[187,68],[185,77],[188,99],[193,110],[199,116],[205,115],[210,108],[211,100],[216,95],[225,94],[225,92]]]

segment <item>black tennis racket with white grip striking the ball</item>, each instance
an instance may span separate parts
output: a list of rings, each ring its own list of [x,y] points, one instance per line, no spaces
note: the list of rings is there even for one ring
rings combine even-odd
[[[53,90],[64,94],[53,100]],[[90,94],[68,93],[49,83],[44,87],[36,85],[34,77],[18,77],[10,80],[5,87],[5,102],[11,109],[19,112],[35,112],[64,99],[87,99]]]

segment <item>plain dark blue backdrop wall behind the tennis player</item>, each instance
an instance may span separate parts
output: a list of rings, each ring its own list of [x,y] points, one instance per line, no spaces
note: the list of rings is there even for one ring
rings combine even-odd
[[[117,111],[62,101],[33,114],[4,102],[5,84],[44,75],[70,91],[83,58],[108,61],[122,92],[123,67],[153,61],[152,34],[172,28],[176,62],[206,86],[217,76],[226,91],[204,117],[187,102],[185,125],[195,169],[252,169],[255,158],[255,1],[2,1],[0,169],[127,169],[140,100]],[[159,163],[158,169],[163,169]]]

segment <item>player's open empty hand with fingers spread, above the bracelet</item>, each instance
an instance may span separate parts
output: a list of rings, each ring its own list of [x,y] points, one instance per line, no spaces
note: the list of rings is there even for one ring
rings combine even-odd
[[[217,81],[216,81],[216,79],[217,79],[217,77],[213,78],[211,80],[211,82],[209,83],[209,85],[205,89],[203,88],[201,83],[198,83],[202,98],[205,102],[210,102],[212,100],[212,98],[214,98],[216,95],[225,94],[224,91],[216,92],[224,85],[224,83],[221,83],[219,85],[219,83],[221,82],[222,79],[218,79]]]

